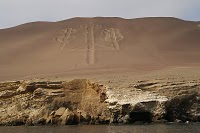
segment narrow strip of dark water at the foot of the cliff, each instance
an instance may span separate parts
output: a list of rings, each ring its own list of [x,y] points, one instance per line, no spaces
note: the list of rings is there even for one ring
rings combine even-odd
[[[2,126],[0,133],[200,133],[200,124]]]

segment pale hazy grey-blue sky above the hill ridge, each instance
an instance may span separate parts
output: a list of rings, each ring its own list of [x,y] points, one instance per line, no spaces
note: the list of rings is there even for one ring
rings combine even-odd
[[[200,21],[200,0],[0,0],[0,29],[33,21],[95,16]]]

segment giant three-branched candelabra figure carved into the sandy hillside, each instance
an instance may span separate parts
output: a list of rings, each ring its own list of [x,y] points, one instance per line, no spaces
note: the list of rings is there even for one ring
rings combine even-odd
[[[70,45],[70,42],[73,41],[76,33],[76,29],[67,28],[61,31],[60,35],[56,37],[56,41],[60,44],[59,50],[66,50],[66,51],[86,51],[86,62],[87,64],[94,64],[95,63],[95,51],[96,50],[120,50],[119,41],[121,41],[124,37],[120,33],[119,29],[114,28],[106,28],[101,31],[100,36],[95,36],[94,31],[95,29],[102,28],[101,25],[89,23],[89,24],[82,24],[79,25],[78,28],[85,29],[86,34],[86,43],[85,47],[77,48],[77,49],[68,49],[67,46]],[[103,46],[97,45],[95,42],[96,38],[101,38],[103,42],[109,42],[110,46]],[[102,42],[102,43],[103,43]],[[101,47],[99,49],[98,47]]]

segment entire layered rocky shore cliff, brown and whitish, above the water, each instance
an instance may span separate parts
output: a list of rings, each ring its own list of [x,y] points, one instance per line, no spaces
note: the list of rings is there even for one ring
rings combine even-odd
[[[200,121],[199,84],[177,84],[173,92],[164,85],[157,90],[157,85],[138,82],[117,89],[85,79],[4,82],[0,84],[0,124]]]

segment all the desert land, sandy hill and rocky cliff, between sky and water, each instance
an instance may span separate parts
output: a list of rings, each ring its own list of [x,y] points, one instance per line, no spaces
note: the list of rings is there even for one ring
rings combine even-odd
[[[200,121],[199,25],[97,17],[1,29],[0,124]]]

